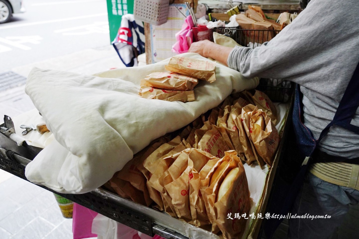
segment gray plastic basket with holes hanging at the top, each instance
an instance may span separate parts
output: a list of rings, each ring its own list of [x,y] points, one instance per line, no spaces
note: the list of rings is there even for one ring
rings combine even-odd
[[[135,0],[134,16],[136,20],[161,25],[167,22],[169,0]]]

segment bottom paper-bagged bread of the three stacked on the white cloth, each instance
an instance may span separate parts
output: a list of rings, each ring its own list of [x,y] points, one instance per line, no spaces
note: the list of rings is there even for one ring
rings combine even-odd
[[[195,100],[194,90],[163,90],[151,86],[141,86],[139,95],[145,99],[190,102]]]

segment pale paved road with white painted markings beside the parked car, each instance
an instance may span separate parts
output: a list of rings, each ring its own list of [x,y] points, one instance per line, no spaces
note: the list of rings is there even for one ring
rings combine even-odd
[[[106,0],[24,0],[0,24],[0,72],[110,44]]]

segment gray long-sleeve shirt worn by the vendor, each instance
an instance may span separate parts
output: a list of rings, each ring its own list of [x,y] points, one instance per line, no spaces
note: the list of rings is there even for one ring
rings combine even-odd
[[[358,12],[358,0],[312,0],[271,41],[253,50],[235,47],[227,64],[247,78],[298,83],[304,95],[304,124],[317,139],[333,119],[359,62]],[[359,126],[359,110],[351,124]],[[359,135],[332,126],[320,147],[328,154],[355,158]]]

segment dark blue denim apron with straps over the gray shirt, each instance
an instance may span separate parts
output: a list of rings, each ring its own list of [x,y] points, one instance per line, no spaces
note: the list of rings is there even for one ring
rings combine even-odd
[[[299,90],[299,85],[295,86],[295,97],[293,106],[293,128],[295,134],[295,141],[299,148],[299,159],[303,160],[299,173],[296,175],[293,183],[290,185],[286,198],[280,207],[280,215],[286,215],[292,207],[295,198],[301,188],[309,164],[322,163],[322,162],[346,162],[352,164],[359,164],[359,158],[346,159],[342,157],[328,155],[325,152],[318,150],[319,142],[325,137],[332,125],[337,125],[356,134],[359,134],[359,127],[351,125],[351,119],[355,115],[359,106],[359,64],[356,66],[353,76],[345,90],[345,93],[339,103],[337,111],[333,120],[323,129],[320,137],[316,140],[312,132],[303,123],[303,106],[302,106],[302,93]],[[266,230],[267,237],[271,237],[275,229],[279,226],[282,220],[277,220],[274,224],[269,224],[270,230]],[[271,231],[271,232],[269,232]],[[269,232],[269,233],[268,233]]]

